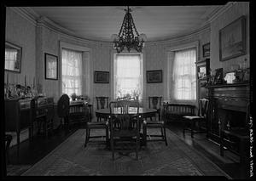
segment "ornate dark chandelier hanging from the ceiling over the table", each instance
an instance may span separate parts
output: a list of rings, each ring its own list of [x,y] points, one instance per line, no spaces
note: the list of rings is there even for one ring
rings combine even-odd
[[[144,42],[147,37],[145,34],[138,34],[137,29],[134,25],[132,16],[131,16],[131,8],[129,6],[125,9],[125,18],[123,20],[123,24],[119,31],[119,35],[113,34],[111,39],[113,40],[113,48],[116,49],[118,54],[124,50],[126,47],[128,52],[131,51],[131,48],[136,49],[137,52],[142,52],[144,47]],[[134,32],[136,34],[134,34]]]

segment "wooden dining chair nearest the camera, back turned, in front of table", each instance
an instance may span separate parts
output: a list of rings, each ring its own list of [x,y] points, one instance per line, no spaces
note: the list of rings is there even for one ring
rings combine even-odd
[[[134,110],[134,114],[129,114],[129,109]],[[135,106],[137,105],[137,106]],[[114,153],[136,152],[138,160],[138,150],[140,147],[140,116],[139,103],[137,100],[118,100],[110,102],[110,146],[112,158]]]

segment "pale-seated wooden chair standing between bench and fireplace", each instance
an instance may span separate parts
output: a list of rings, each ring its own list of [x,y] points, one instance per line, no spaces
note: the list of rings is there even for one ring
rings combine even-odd
[[[207,133],[208,105],[208,99],[200,99],[197,115],[183,116],[183,135],[185,135],[185,130],[190,130],[191,138],[194,138],[194,133]],[[201,129],[202,122],[205,122],[206,130]],[[196,123],[198,123],[198,130],[195,130]]]

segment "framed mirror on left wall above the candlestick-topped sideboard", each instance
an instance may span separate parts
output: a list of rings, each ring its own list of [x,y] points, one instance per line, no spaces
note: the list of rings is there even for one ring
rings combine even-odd
[[[21,72],[22,48],[12,42],[5,42],[4,70]]]

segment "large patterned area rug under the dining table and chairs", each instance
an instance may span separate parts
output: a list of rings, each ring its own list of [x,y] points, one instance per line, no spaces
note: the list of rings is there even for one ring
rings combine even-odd
[[[101,130],[91,132],[100,134]],[[169,175],[230,178],[170,130],[166,130],[166,135],[168,146],[164,142],[148,142],[147,148],[139,151],[138,161],[135,159],[135,153],[127,156],[116,153],[113,161],[112,153],[106,150],[105,144],[89,143],[84,148],[85,130],[80,129],[22,175]]]

